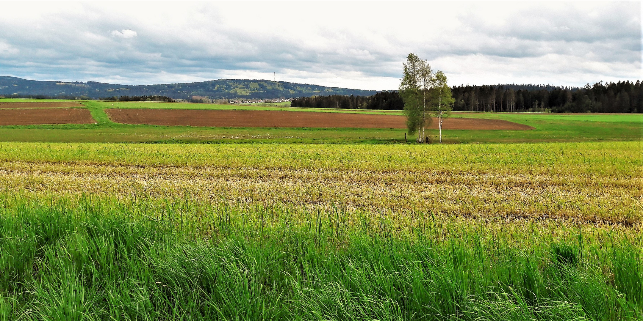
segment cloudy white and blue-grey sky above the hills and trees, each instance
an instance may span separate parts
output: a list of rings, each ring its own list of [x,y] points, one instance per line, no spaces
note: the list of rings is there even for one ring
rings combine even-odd
[[[275,79],[397,89],[643,77],[641,1],[1,2],[0,76],[127,85]]]

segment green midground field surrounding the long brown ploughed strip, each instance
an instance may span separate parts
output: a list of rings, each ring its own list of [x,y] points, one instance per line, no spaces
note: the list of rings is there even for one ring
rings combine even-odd
[[[3,101],[13,101],[4,98]],[[26,101],[26,100],[21,100]],[[31,100],[35,101],[35,100]],[[0,141],[67,143],[404,143],[404,130],[365,128],[208,128],[113,123],[105,108],[298,110],[401,114],[387,110],[261,107],[201,103],[83,101],[98,122],[91,125],[0,126]],[[505,119],[535,130],[444,130],[445,143],[640,141],[642,114],[536,114],[458,112],[453,117]],[[430,134],[437,135],[436,130]],[[410,139],[413,140],[413,139]]]

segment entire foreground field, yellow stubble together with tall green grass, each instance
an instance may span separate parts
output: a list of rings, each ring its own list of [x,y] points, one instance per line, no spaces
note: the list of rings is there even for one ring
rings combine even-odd
[[[640,320],[641,148],[0,143],[0,319]]]

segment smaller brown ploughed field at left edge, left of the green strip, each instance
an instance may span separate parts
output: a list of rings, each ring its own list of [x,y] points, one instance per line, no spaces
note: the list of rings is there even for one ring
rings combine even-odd
[[[91,124],[85,108],[2,109],[0,125]]]

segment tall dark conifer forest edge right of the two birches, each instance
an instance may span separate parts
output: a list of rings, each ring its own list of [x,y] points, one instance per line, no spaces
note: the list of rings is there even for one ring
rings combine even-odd
[[[637,82],[597,82],[583,88],[551,85],[451,87],[453,110],[471,112],[643,112]]]

